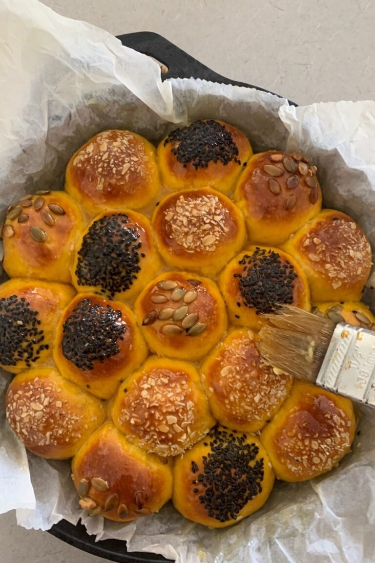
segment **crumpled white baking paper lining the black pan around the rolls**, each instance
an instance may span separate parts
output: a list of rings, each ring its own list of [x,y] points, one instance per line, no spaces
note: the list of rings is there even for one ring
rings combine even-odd
[[[288,146],[313,158],[325,204],[353,215],[375,248],[372,101],[294,108],[250,88],[195,79],[162,83],[156,62],[35,0],[0,0],[0,80],[3,213],[29,191],[62,187],[70,155],[98,131],[128,128],[157,142],[175,124],[222,118],[240,127],[255,150]],[[370,289],[367,299],[374,307]],[[232,528],[193,524],[171,503],[119,525],[84,517],[69,462],[26,455],[4,419],[9,379],[0,376],[0,512],[16,509],[25,528],[47,530],[62,518],[82,517],[98,540],[126,539],[130,551],[178,563],[375,561],[374,412],[363,412],[361,435],[340,467],[308,483],[277,483],[265,507]]]

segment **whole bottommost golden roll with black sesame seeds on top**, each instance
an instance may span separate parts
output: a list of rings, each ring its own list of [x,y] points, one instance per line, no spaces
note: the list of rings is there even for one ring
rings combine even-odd
[[[257,436],[215,426],[175,459],[172,500],[189,520],[224,528],[259,510],[274,478]]]

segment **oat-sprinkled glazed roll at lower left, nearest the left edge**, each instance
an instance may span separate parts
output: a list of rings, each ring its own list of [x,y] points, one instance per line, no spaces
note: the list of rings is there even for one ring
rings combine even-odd
[[[56,369],[30,369],[12,379],[6,416],[34,454],[72,457],[104,421],[100,401],[61,377]]]

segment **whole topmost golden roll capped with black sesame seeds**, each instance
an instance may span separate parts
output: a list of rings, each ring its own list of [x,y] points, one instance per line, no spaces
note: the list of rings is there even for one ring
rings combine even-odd
[[[214,119],[174,129],[157,148],[166,188],[214,187],[224,194],[232,189],[251,154],[250,143],[239,129]]]

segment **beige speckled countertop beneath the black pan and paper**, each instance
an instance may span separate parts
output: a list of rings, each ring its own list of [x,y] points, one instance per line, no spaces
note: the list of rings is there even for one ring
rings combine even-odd
[[[164,35],[216,72],[297,104],[375,99],[371,0],[44,0],[111,33]],[[100,563],[0,516],[0,563]],[[281,563],[277,561],[275,563]]]

